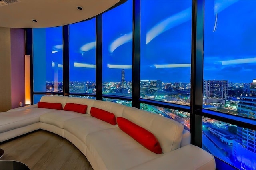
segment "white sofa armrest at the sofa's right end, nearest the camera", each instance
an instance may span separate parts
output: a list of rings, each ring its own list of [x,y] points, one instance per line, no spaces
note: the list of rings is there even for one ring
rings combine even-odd
[[[167,154],[134,166],[130,170],[215,170],[214,157],[205,150],[186,145]]]

